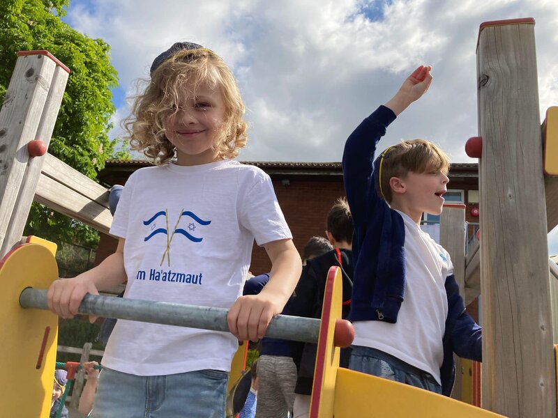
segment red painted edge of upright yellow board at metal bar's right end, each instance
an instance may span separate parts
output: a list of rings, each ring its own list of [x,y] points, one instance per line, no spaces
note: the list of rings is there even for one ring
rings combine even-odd
[[[312,401],[310,405],[314,406],[310,411],[309,418],[318,417],[319,398],[322,394],[322,385],[324,382],[324,369],[326,366],[326,345],[327,345],[327,330],[329,321],[331,320],[331,299],[333,297],[333,281],[337,268],[332,266],[327,273],[326,291],[324,294],[324,304],[322,311],[322,322],[319,324],[319,346],[316,353],[316,369],[314,371],[314,386],[312,387]]]

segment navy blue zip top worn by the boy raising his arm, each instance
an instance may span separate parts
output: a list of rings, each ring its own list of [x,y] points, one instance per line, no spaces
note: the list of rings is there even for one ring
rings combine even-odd
[[[356,127],[345,144],[343,178],[354,223],[352,322],[395,323],[405,297],[405,224],[401,215],[380,199],[374,175],[379,166],[379,158],[374,161],[376,145],[394,120],[393,111],[380,106]],[[481,361],[482,336],[481,327],[465,312],[453,274],[446,277],[445,287],[448,316],[440,377],[442,393],[449,396],[455,380],[453,352]]]

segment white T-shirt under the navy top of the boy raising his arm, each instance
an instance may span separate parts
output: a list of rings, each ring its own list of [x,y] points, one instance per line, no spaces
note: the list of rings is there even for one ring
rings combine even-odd
[[[448,251],[400,212],[405,223],[405,300],[395,324],[355,322],[355,346],[376,348],[430,373],[438,383],[444,360],[448,300],[444,284],[453,274]]]

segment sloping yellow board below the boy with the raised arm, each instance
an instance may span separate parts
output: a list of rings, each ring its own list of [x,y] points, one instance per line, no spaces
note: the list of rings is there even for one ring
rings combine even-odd
[[[502,417],[447,396],[341,368],[337,370],[335,381],[333,416],[335,418]]]

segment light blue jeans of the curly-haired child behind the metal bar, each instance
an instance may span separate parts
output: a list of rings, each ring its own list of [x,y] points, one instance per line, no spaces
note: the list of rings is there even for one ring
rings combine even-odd
[[[100,373],[93,418],[225,418],[229,373],[199,370],[135,376],[106,367]]]

